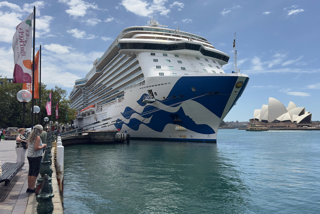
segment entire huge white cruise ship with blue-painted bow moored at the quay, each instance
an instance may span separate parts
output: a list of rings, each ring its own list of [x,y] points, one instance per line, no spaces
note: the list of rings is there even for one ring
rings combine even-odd
[[[230,56],[205,38],[159,22],[121,31],[75,81],[74,126],[119,130],[133,139],[217,141],[220,123],[249,77],[222,66]]]

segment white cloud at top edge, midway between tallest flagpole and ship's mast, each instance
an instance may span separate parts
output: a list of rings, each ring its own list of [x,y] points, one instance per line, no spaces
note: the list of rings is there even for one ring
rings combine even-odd
[[[77,18],[79,16],[83,17],[87,13],[87,10],[90,8],[99,9],[97,4],[91,4],[83,0],[59,0],[59,2],[67,4],[69,6],[69,9],[66,10],[66,13],[68,13],[69,16],[73,16],[74,18]]]

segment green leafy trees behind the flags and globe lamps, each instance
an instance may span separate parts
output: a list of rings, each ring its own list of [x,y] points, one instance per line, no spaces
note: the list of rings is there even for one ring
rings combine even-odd
[[[17,93],[22,90],[23,83],[13,84],[8,82],[6,78],[2,78],[0,75],[0,81],[3,83],[0,85],[0,127],[22,127],[23,117],[23,104],[17,99]],[[41,82],[41,106],[39,105],[39,99],[34,99],[34,105],[40,107],[41,114],[41,125],[44,126],[44,117],[48,117],[49,121],[58,121],[61,124],[69,123],[76,119],[76,109],[69,109],[70,101],[67,98],[67,90],[64,90],[58,86],[52,89],[52,110],[51,116],[47,116],[47,110],[45,105],[49,98],[51,89],[47,89],[47,86]],[[55,117],[55,109],[59,100],[59,119]],[[25,127],[31,127],[31,108],[32,101],[26,104],[26,116],[25,116]],[[68,108],[68,121],[66,121],[66,108]],[[34,125],[39,124],[39,117],[35,116]]]

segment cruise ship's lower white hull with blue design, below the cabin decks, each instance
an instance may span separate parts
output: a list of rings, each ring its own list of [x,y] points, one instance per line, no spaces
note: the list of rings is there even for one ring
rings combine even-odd
[[[248,80],[241,73],[146,77],[145,85],[125,90],[124,98],[75,120],[74,124],[86,126],[112,118],[101,124],[118,123],[85,128],[121,129],[131,138],[216,142],[220,123],[240,98]],[[150,90],[155,101],[144,103]]]

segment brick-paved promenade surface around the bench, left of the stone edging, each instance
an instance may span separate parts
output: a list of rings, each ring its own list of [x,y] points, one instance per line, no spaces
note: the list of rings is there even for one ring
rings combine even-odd
[[[16,141],[0,141],[0,160],[4,162],[16,162]],[[21,214],[27,208],[29,193],[26,193],[28,188],[28,159],[26,154],[25,165],[20,170],[8,186],[4,182],[0,184],[0,214],[12,213]],[[27,181],[27,182],[26,182]]]

